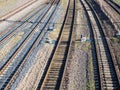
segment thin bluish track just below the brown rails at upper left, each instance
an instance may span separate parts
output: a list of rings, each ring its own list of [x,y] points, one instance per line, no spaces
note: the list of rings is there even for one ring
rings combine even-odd
[[[29,26],[31,27],[35,22],[37,17],[44,12],[46,5],[41,5],[41,7],[39,9],[36,10],[36,12],[30,12],[28,16],[25,16],[25,19],[23,18],[23,20],[21,20],[20,22],[18,22],[17,25],[15,25],[13,28],[11,29],[7,29],[4,30],[3,32],[1,32],[1,37],[0,37],[0,44],[3,44],[6,40],[8,40],[10,37],[12,37],[17,31],[20,31],[21,29]],[[32,14],[33,13],[33,14]],[[14,21],[13,21],[14,22]]]

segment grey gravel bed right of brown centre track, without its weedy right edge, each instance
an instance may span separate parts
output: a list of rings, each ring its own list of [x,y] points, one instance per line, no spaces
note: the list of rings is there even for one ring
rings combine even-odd
[[[72,52],[72,59],[67,68],[66,76],[68,75],[68,84],[64,86],[66,90],[86,90],[87,86],[87,62],[88,62],[88,48],[89,43],[81,42],[81,35],[89,38],[89,31],[87,28],[86,17],[80,1],[76,0],[77,19],[76,19],[76,34],[75,34],[75,47]]]

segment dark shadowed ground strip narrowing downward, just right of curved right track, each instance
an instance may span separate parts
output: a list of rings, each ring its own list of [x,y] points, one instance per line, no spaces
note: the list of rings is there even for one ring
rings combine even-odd
[[[97,15],[97,17],[99,18],[99,22],[103,28],[103,32],[105,34],[105,36],[107,37],[107,43],[108,43],[108,47],[110,48],[110,52],[112,55],[112,59],[113,59],[113,63],[115,66],[115,70],[117,72],[117,77],[120,80],[120,71],[119,71],[119,67],[118,67],[118,62],[115,58],[115,52],[113,53],[113,47],[111,47],[111,36],[113,36],[113,34],[110,32],[110,30],[115,30],[115,28],[113,27],[112,22],[109,20],[109,18],[105,15],[105,13],[100,9],[100,6],[98,5],[98,3],[96,3],[95,1],[91,2],[91,6],[93,6],[93,9]],[[108,23],[109,22],[109,23]],[[116,30],[114,31],[114,33],[116,32]],[[111,35],[110,35],[111,34]]]

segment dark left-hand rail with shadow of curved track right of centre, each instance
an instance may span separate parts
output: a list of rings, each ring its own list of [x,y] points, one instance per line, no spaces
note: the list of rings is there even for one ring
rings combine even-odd
[[[80,0],[80,3],[82,4],[84,11],[85,11],[85,15],[87,18],[87,24],[89,27],[89,31],[90,31],[90,39],[92,40],[91,42],[91,51],[92,51],[92,63],[93,63],[93,74],[94,74],[94,84],[95,84],[95,90],[101,90],[101,83],[100,83],[100,76],[99,76],[99,68],[98,68],[98,59],[97,59],[97,52],[96,52],[96,46],[95,46],[95,40],[94,40],[94,34],[93,34],[93,30],[92,30],[92,25],[90,22],[90,17],[88,15],[87,9],[84,6],[83,2]]]

